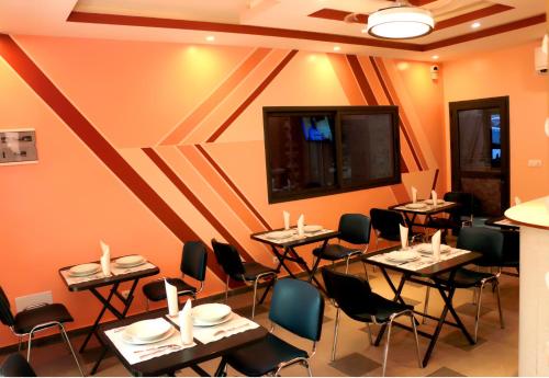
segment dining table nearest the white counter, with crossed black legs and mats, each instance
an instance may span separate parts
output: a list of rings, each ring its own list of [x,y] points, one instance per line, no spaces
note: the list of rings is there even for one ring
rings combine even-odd
[[[390,260],[390,253],[399,253],[401,249],[400,247],[383,251],[377,251],[361,257],[365,263],[379,267],[381,274],[383,275],[391,290],[394,294],[393,298],[394,301],[399,301],[402,305],[405,305],[404,299],[402,298],[402,290],[406,283],[415,283],[418,285],[433,287],[437,289],[438,293],[440,294],[440,297],[442,298],[445,305],[442,311],[438,317],[416,311],[414,309],[414,313],[437,321],[437,327],[435,328],[435,331],[433,333],[428,333],[421,329],[417,330],[417,333],[419,335],[427,337],[429,340],[429,344],[427,346],[427,350],[423,358],[424,367],[427,366],[430,359],[432,353],[440,335],[440,331],[442,330],[442,327],[445,324],[458,328],[471,345],[475,344],[473,337],[471,336],[471,334],[464,327],[463,322],[461,321],[460,317],[456,312],[456,309],[453,308],[452,299],[456,293],[456,286],[453,285],[453,282],[456,273],[460,267],[468,265],[482,256],[482,254],[478,252],[441,245],[441,248],[444,248],[447,252],[440,253],[439,260],[436,260],[432,254],[428,253],[429,245],[430,244],[417,244],[407,250],[407,251],[411,250],[413,251],[415,249],[417,251],[419,257],[414,261],[402,262],[399,260]],[[419,252],[421,250],[422,252]],[[399,284],[395,285],[393,283],[388,271],[393,271],[396,274],[401,275]],[[442,285],[435,278],[437,275],[445,273],[449,273],[449,278]],[[446,319],[448,312],[451,313],[453,322]],[[415,321],[417,322],[417,320]],[[404,328],[408,331],[412,331],[412,328],[408,325],[399,322],[393,322],[393,324]],[[383,337],[383,333],[385,332],[385,328],[386,324],[382,325],[380,332],[378,333],[376,345],[380,344]]]

